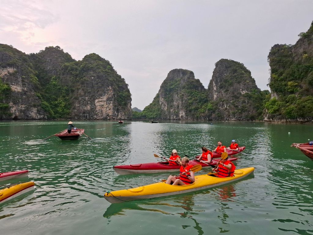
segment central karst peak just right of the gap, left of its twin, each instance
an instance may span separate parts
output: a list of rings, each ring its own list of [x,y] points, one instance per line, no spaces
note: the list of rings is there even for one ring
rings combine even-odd
[[[173,69],[161,84],[153,102],[142,113],[147,118],[195,119],[198,109],[205,102],[206,89],[199,79],[195,79],[193,72]]]

